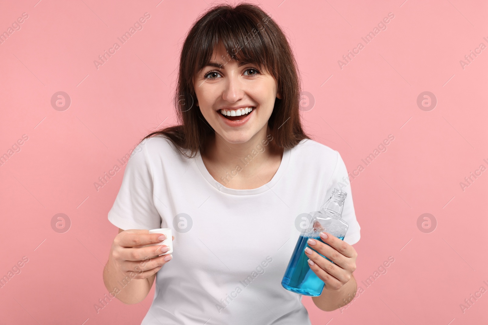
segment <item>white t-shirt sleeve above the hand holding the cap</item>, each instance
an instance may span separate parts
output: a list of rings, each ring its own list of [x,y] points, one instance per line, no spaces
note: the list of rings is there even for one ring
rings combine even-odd
[[[142,142],[132,152],[121,188],[108,212],[108,221],[120,229],[161,228],[162,219],[154,205],[148,147],[147,142]]]

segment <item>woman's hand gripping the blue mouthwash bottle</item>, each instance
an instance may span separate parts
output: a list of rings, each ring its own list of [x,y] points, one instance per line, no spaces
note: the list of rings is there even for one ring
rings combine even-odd
[[[305,254],[308,256],[308,265],[315,274],[325,282],[325,288],[328,290],[339,290],[344,286],[356,269],[356,250],[343,240],[332,236],[329,233],[321,232],[320,237],[327,243],[308,239],[307,244],[310,248],[305,248]],[[330,246],[329,246],[330,245]],[[331,263],[318,253],[327,256]]]

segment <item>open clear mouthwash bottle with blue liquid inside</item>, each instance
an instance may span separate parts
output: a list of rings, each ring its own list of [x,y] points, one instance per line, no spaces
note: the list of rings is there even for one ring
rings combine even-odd
[[[300,233],[297,245],[295,246],[295,250],[293,251],[281,282],[281,285],[285,289],[305,296],[320,296],[322,294],[325,283],[308,265],[308,256],[305,254],[305,247],[314,250],[313,247],[307,244],[309,238],[324,243],[320,238],[322,231],[344,240],[347,228],[349,228],[347,222],[342,219],[342,210],[346,196],[347,193],[345,191],[334,189],[332,195],[320,211],[310,212],[311,220],[308,223],[308,227]],[[320,255],[325,257],[322,254]],[[330,261],[327,257],[325,258]],[[332,261],[330,262],[334,263]]]

